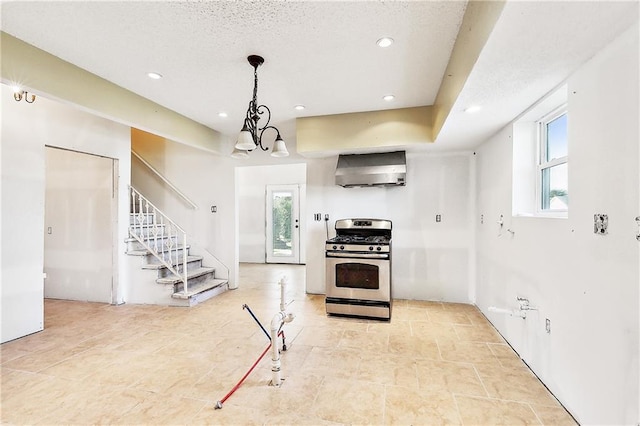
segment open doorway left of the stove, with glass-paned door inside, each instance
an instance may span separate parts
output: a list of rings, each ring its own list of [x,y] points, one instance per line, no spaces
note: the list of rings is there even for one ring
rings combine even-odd
[[[306,179],[307,166],[304,163],[236,169],[238,259],[241,263],[305,263]],[[284,194],[280,189],[296,188],[294,192],[298,202],[287,197],[280,200],[291,201],[292,206],[297,208],[296,212],[291,211],[290,222],[283,220],[281,223],[283,226],[290,226],[291,232],[281,228],[273,235],[273,226],[270,224],[273,223],[273,217],[269,218],[270,215],[267,214],[273,210],[273,193],[270,194],[270,188],[276,189],[277,198]],[[281,207],[286,207],[285,205]],[[274,238],[275,245],[271,244]]]

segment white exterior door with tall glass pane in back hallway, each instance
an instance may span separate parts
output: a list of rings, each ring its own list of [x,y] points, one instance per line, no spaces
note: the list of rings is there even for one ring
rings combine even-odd
[[[267,185],[267,263],[300,263],[300,186]]]

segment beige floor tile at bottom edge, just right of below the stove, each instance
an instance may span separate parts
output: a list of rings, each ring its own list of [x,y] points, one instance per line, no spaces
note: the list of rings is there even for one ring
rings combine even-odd
[[[453,395],[446,391],[421,392],[388,386],[385,394],[384,424],[459,425],[460,417]]]

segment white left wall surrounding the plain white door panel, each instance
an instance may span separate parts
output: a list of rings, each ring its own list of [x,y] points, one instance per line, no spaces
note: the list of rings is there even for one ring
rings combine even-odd
[[[40,96],[16,102],[2,95],[2,341],[42,330],[45,145],[118,159],[118,264],[126,256],[130,180],[129,128]],[[114,300],[128,282],[119,270]]]

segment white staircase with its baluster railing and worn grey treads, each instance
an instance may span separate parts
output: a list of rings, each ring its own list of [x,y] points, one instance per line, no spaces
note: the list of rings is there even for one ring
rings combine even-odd
[[[187,235],[164,213],[130,187],[131,214],[127,254],[141,259],[130,301],[194,306],[229,289],[228,279],[203,266],[203,256],[189,254]],[[153,285],[148,285],[153,281]]]

